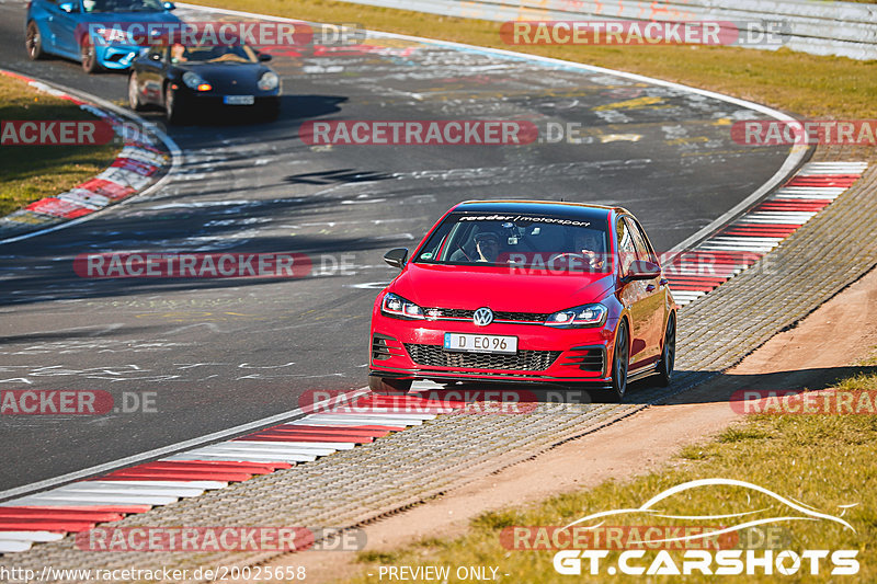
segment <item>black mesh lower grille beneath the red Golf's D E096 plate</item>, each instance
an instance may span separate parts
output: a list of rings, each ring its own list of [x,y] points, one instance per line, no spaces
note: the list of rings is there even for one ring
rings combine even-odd
[[[441,345],[406,343],[411,360],[428,367],[457,367],[464,369],[511,369],[543,371],[560,356],[560,351],[519,351],[514,355],[489,353],[454,353]]]

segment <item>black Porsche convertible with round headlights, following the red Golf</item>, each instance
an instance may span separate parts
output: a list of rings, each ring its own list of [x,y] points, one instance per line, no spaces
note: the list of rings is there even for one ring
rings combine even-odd
[[[269,60],[243,44],[152,46],[132,64],[128,103],[135,111],[163,107],[171,124],[219,107],[259,108],[273,119],[282,88]]]

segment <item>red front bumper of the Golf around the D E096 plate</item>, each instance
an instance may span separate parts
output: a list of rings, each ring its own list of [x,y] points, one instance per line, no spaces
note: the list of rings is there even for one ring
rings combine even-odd
[[[508,381],[560,385],[611,383],[608,363],[617,321],[592,329],[471,321],[399,320],[376,314],[372,323],[373,376],[442,381]],[[511,335],[517,353],[445,351],[446,332]]]

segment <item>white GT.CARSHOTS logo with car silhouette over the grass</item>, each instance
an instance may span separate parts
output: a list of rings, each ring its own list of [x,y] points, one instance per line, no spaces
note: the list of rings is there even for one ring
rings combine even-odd
[[[715,501],[728,504],[728,495],[744,494],[752,508],[740,513],[719,512],[709,515],[685,513],[673,515],[667,507],[671,497],[691,501],[691,491],[697,489],[719,490]],[[779,504],[783,513],[771,514],[767,507]],[[844,509],[855,505],[842,505]],[[607,520],[633,520],[637,516],[659,517],[662,520],[684,520],[686,528],[673,526],[623,526],[606,527]],[[717,522],[739,520],[736,525],[716,526]],[[708,522],[693,526],[698,520]],[[638,508],[603,511],[590,514],[571,524],[534,539],[532,533],[521,530],[504,533],[511,537],[513,549],[560,549],[554,556],[553,565],[563,575],[853,575],[859,571],[857,549],[727,549],[729,535],[752,528],[765,528],[779,523],[796,520],[825,522],[855,533],[841,516],[821,513],[794,500],[778,495],[756,484],[730,479],[703,479],[679,484],[653,496]],[[566,534],[565,534],[566,533]],[[560,537],[565,535],[566,537]],[[631,537],[633,536],[633,537]],[[514,538],[517,538],[516,540]],[[737,536],[739,537],[739,536]],[[790,542],[787,538],[786,542]],[[506,545],[508,547],[508,545]],[[748,546],[742,546],[745,548]],[[569,549],[573,548],[573,549]],[[602,548],[602,549],[596,549]],[[614,550],[623,550],[615,553]],[[684,550],[684,551],[683,551]]]

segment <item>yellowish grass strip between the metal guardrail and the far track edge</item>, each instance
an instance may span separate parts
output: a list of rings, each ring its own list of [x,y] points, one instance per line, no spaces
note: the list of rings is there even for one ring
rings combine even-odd
[[[512,48],[610,67],[719,91],[810,118],[873,118],[877,61],[819,57],[788,49],[737,47],[517,46],[500,39],[498,22],[443,18],[329,0],[206,0],[232,10],[314,22],[357,23],[386,31]]]

